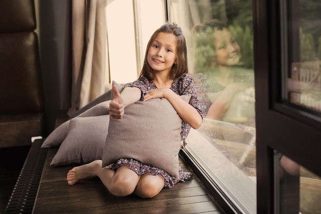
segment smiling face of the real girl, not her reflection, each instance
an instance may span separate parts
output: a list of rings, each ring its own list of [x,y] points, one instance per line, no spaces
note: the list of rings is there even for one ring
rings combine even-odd
[[[176,36],[172,33],[160,32],[155,37],[148,49],[147,62],[156,72],[170,72],[174,63],[176,63],[177,50]]]

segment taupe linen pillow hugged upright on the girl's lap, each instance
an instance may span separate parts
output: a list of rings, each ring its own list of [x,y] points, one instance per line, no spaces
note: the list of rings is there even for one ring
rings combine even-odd
[[[191,95],[180,97],[188,102]],[[133,158],[178,178],[182,122],[166,98],[137,101],[127,106],[122,119],[110,117],[103,167],[119,158]]]

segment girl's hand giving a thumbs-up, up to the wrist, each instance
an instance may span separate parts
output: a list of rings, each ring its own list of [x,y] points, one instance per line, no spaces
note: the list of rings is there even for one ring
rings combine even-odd
[[[112,91],[114,98],[109,104],[109,115],[114,119],[121,119],[124,115],[124,100],[121,94],[119,94],[117,87],[113,85]]]

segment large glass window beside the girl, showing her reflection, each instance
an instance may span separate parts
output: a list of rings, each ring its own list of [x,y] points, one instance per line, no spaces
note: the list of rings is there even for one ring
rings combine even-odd
[[[256,212],[252,1],[169,1],[205,118],[185,150],[234,209]]]

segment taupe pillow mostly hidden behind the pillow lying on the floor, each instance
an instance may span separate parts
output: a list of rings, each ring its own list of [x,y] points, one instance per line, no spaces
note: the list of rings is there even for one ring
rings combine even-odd
[[[94,105],[92,108],[83,112],[82,114],[79,114],[77,117],[93,117],[99,115],[108,115],[109,103],[110,100],[98,103]],[[61,145],[68,134],[69,123],[70,120],[67,120],[63,124],[56,127],[56,129],[48,135],[41,147],[58,147],[59,145]],[[88,129],[90,129],[90,127],[88,127]]]

